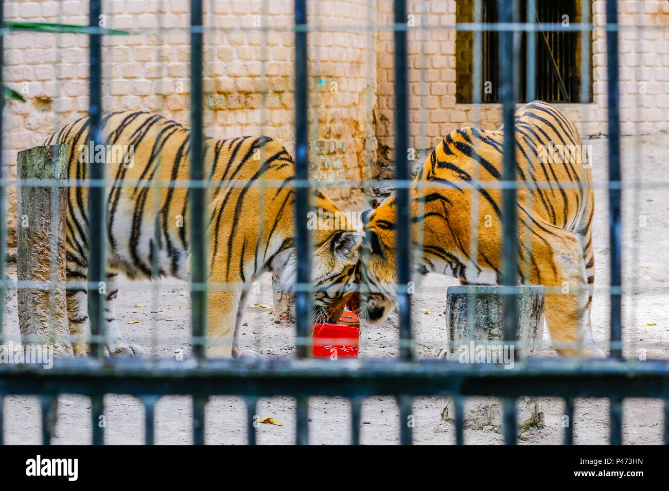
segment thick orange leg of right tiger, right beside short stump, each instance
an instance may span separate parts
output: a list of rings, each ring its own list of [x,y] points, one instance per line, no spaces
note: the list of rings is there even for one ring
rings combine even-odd
[[[589,285],[578,236],[550,225],[535,232],[533,283],[547,289],[546,323],[556,351],[602,357],[590,331]]]

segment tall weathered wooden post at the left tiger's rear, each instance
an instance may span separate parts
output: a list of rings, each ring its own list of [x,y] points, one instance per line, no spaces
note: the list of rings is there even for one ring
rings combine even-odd
[[[17,161],[19,179],[66,178],[68,147],[22,150]],[[66,186],[52,183],[19,185],[17,200],[17,277],[19,282],[37,283],[18,288],[21,343],[50,345],[60,356],[73,355],[65,295],[66,194]]]

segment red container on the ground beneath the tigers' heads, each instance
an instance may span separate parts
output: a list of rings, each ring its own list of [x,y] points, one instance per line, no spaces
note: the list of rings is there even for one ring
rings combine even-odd
[[[355,358],[360,341],[358,316],[345,309],[337,324],[312,324],[311,337],[311,353],[315,358]]]

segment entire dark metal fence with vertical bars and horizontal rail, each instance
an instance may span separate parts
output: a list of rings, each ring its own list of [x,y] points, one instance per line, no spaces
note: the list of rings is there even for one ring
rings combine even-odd
[[[582,2],[585,9],[588,2]],[[562,30],[559,24],[537,24],[529,17],[518,19],[517,3],[498,2],[498,22],[482,23],[480,1],[476,1],[476,19],[471,24],[460,24],[457,29],[475,33],[475,45],[482,46],[482,33],[496,32],[499,39],[500,102],[505,128],[514,126],[516,97],[514,69],[518,53],[514,51],[514,36],[527,33],[527,94],[534,94],[536,84],[531,74],[536,71],[536,50],[532,47],[537,32]],[[527,11],[535,8],[529,1]],[[101,1],[90,1],[90,116],[91,134],[102,141],[102,30],[98,29]],[[202,59],[203,28],[201,0],[191,1],[191,130],[193,140],[203,132]],[[263,359],[261,361],[205,359],[203,337],[207,278],[207,249],[205,230],[205,176],[202,168],[202,148],[191,146],[190,202],[191,247],[195,257],[191,269],[193,355],[186,361],[163,359],[110,359],[102,354],[104,336],[104,295],[98,295],[98,282],[105,279],[106,232],[104,210],[103,166],[92,166],[90,176],[90,273],[88,277],[90,318],[92,323],[91,356],[80,359],[56,359],[50,370],[29,364],[0,364],[0,442],[2,441],[3,395],[37,395],[43,411],[43,443],[49,444],[56,397],[62,393],[87,395],[92,399],[93,442],[104,442],[104,428],[98,419],[104,414],[102,397],[107,393],[136,395],[145,403],[146,442],[153,444],[153,410],[157,397],[162,395],[190,395],[193,397],[193,443],[203,444],[204,414],[207,398],[212,395],[239,395],[248,407],[248,443],[256,443],[253,416],[259,397],[286,395],[295,397],[298,444],[308,443],[308,397],[341,396],[351,400],[351,442],[360,442],[361,403],[365,397],[391,395],[397,398],[400,414],[400,442],[411,444],[412,428],[405,424],[412,412],[413,398],[423,395],[455,397],[456,443],[464,443],[463,402],[470,396],[501,397],[503,403],[504,443],[516,443],[516,405],[521,396],[561,397],[565,400],[565,416],[573,420],[573,402],[577,397],[608,397],[610,399],[610,443],[622,443],[622,401],[625,397],[656,397],[664,400],[664,443],[669,443],[669,363],[666,360],[638,361],[622,356],[622,238],[621,238],[621,173],[618,77],[618,23],[617,2],[606,3],[607,92],[609,134],[609,232],[610,232],[610,357],[601,360],[580,358],[524,359],[513,369],[494,364],[463,365],[452,360],[417,359],[413,350],[411,329],[411,296],[406,285],[411,281],[411,216],[409,180],[411,168],[407,156],[409,148],[409,104],[407,84],[407,11],[404,0],[394,2],[395,23],[395,178],[397,184],[397,282],[399,305],[400,355],[395,360],[340,360],[336,363],[312,359],[308,355],[310,335],[310,236],[304,220],[296,220],[296,249],[298,271],[296,286],[296,319],[298,349],[296,359]],[[306,0],[294,3],[295,19],[295,128],[296,128],[296,216],[306,216],[310,206],[308,172],[308,57]],[[589,16],[583,17],[589,19]],[[572,23],[569,29],[589,35],[594,29],[591,22]],[[1,39],[1,38],[0,38]],[[517,43],[516,43],[517,45]],[[588,47],[583,59],[588,59]],[[480,49],[475,50],[478,55]],[[478,69],[476,66],[479,65]],[[480,82],[480,60],[474,63],[475,83]],[[585,79],[589,70],[583,69]],[[478,79],[478,80],[477,80]],[[582,82],[581,98],[588,102],[589,84]],[[529,100],[533,97],[528,96]],[[474,93],[474,104],[480,104],[480,94]],[[0,128],[1,130],[1,128]],[[516,164],[514,132],[506,131],[504,140],[503,187],[504,209],[504,271],[503,283],[516,285],[517,241],[516,230]],[[7,180],[0,188],[0,206],[5,202]],[[4,210],[0,210],[4,214]],[[0,253],[5,256],[5,226],[0,237]],[[0,275],[4,274],[0,263]],[[4,284],[0,297],[4,295]],[[514,291],[514,289],[510,289]],[[514,342],[517,313],[514,308],[516,293],[506,295],[505,339]],[[0,304],[1,308],[1,304]],[[573,442],[573,425],[565,428],[565,444]]]

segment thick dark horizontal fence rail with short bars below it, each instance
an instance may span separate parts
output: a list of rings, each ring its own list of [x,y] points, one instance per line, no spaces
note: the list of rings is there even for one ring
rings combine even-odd
[[[514,401],[518,397],[562,397],[566,401],[566,416],[573,412],[576,397],[611,398],[611,444],[622,443],[620,404],[624,397],[656,397],[664,399],[664,442],[669,443],[667,360],[639,362],[609,358],[584,362],[530,358],[522,369],[505,369],[500,365],[467,365],[444,360],[340,360],[331,363],[316,359],[265,359],[245,363],[195,359],[57,359],[49,370],[35,365],[0,365],[0,393],[39,394],[47,398],[61,393],[88,395],[94,401],[95,421],[103,414],[99,402],[102,395],[136,395],[145,402],[147,414],[151,412],[145,422],[145,431],[151,436],[153,406],[156,398],[162,395],[191,395],[202,415],[206,399],[212,395],[248,397],[247,403],[255,403],[258,397],[280,395],[302,401],[310,396],[341,396],[353,401],[353,442],[359,442],[360,401],[365,397],[395,396],[398,401],[403,401],[408,414],[413,397],[454,396],[460,402],[462,397],[469,396],[503,397],[506,401],[503,429],[507,444],[516,441],[516,428],[512,422],[516,412]],[[456,412],[456,436],[460,435],[457,442],[462,444],[461,403],[456,404]],[[251,431],[255,414],[254,407],[249,407],[251,422],[248,428],[252,443],[255,442],[254,431]],[[44,417],[49,414],[45,412]],[[297,419],[298,428],[308,427],[306,412],[298,411]],[[204,442],[202,421],[194,422],[196,443]],[[403,426],[401,423],[401,428]],[[48,431],[47,428],[43,430]],[[94,432],[102,431],[94,425]],[[98,436],[100,442],[102,438]],[[297,438],[306,442],[304,434],[298,432]],[[408,436],[401,440],[410,443]],[[565,443],[572,442],[573,425],[569,425],[565,428]]]

